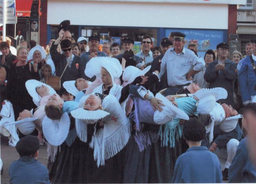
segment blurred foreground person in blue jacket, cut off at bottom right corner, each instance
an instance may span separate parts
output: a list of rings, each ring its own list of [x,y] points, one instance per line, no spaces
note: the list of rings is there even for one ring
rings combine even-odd
[[[249,103],[243,110],[243,122],[245,129],[248,129],[250,121],[256,119],[256,104]],[[253,123],[253,122],[252,122]],[[255,133],[255,132],[254,132]],[[248,154],[248,139],[250,134],[239,143],[236,156],[228,169],[228,177],[230,183],[255,183],[256,167],[252,163]],[[255,153],[254,153],[255,154]]]

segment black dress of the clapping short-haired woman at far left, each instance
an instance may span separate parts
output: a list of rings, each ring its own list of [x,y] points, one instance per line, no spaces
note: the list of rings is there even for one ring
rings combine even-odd
[[[36,108],[32,97],[28,94],[25,83],[30,79],[40,80],[38,71],[34,72],[31,63],[24,66],[16,66],[16,64],[12,64],[7,78],[7,99],[13,105],[15,120],[22,110]]]

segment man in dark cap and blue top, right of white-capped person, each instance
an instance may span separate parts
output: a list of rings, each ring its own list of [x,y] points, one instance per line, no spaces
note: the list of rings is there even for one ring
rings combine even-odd
[[[87,62],[93,57],[107,57],[107,54],[105,52],[100,52],[98,50],[98,47],[100,45],[100,38],[97,35],[91,35],[88,41],[89,52],[85,52],[80,55],[80,58],[85,66]]]

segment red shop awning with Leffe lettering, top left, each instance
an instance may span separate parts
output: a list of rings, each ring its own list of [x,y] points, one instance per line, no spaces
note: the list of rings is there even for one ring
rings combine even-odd
[[[16,16],[30,17],[30,11],[33,0],[16,0]]]

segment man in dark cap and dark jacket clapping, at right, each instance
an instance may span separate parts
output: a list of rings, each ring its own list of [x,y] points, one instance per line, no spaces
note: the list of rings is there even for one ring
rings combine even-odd
[[[228,44],[217,45],[218,57],[206,68],[204,79],[210,83],[209,88],[222,87],[227,90],[228,97],[219,102],[234,106],[234,81],[237,79],[236,63],[228,59]]]

